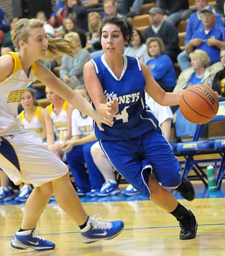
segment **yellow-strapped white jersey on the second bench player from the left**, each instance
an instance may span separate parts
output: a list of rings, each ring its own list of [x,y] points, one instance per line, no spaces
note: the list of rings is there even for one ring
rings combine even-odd
[[[53,111],[53,103],[49,105],[49,117],[53,121],[54,132],[56,134],[56,139],[61,141],[67,135],[67,124],[68,124],[68,116],[67,116],[67,101],[64,101],[62,105],[62,109],[57,116]]]

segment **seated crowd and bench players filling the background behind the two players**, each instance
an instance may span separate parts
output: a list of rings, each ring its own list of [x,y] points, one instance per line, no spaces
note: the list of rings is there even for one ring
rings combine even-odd
[[[59,70],[59,78],[70,88],[78,90],[89,100],[83,81],[83,66],[92,58],[101,56],[101,20],[107,15],[116,15],[132,22],[140,14],[142,4],[154,2],[148,12],[150,25],[142,33],[134,29],[134,39],[124,48],[124,54],[134,56],[151,70],[155,80],[166,92],[182,92],[197,83],[203,83],[225,99],[225,28],[224,1],[216,1],[216,11],[208,0],[195,0],[195,8],[189,9],[188,0],[116,1],[116,0],[64,0],[58,1],[50,17],[45,12],[36,12],[36,19],[45,23],[49,36],[61,37],[77,46],[75,57],[62,56],[49,59],[44,64],[53,72]],[[31,17],[32,18],[32,17]],[[1,55],[15,51],[11,31],[19,17],[7,20],[0,7]],[[179,47],[177,25],[187,21],[185,47]],[[178,63],[180,74],[174,69]],[[37,106],[36,99],[47,98],[44,109]],[[171,138],[173,116],[176,121],[176,138],[192,137],[196,125],[185,120],[180,109],[159,106],[146,95],[146,104],[159,119],[159,124],[168,140]],[[120,193],[115,169],[109,163],[93,132],[93,120],[73,109],[56,93],[46,88],[45,93],[25,90],[18,118],[25,129],[35,130],[53,152],[69,164],[80,197],[104,197]],[[185,129],[184,129],[185,127]],[[0,202],[15,198],[25,202],[32,186],[24,184],[15,194],[6,174],[0,172]],[[137,195],[131,185],[122,195]]]

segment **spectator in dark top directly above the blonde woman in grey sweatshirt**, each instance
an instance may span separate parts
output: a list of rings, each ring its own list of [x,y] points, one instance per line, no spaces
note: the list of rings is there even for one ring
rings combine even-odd
[[[69,15],[63,20],[63,27],[64,27],[64,32],[66,34],[70,32],[77,32],[80,36],[82,48],[85,48],[87,44],[87,36],[85,35],[85,32],[83,32],[83,30],[80,30],[77,27],[74,15]]]

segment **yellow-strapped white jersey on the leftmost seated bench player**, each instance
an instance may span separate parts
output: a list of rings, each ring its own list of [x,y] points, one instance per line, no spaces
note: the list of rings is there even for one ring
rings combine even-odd
[[[43,127],[40,122],[40,106],[36,107],[35,115],[33,116],[32,120],[30,122],[25,119],[25,111],[23,110],[19,114],[20,124],[27,129],[27,130],[34,130],[41,138],[43,138]]]

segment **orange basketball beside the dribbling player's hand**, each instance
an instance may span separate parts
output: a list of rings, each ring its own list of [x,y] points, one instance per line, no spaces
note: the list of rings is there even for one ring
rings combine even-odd
[[[184,90],[179,105],[181,113],[188,121],[205,124],[216,115],[219,100],[210,87],[198,84]]]

